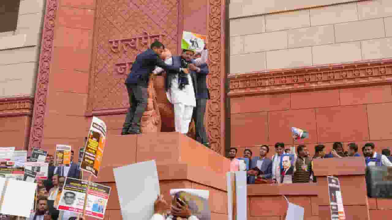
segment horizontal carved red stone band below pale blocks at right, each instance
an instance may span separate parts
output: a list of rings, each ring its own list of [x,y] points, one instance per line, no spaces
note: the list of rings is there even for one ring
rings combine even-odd
[[[229,76],[229,96],[362,86],[391,81],[392,59],[361,61]]]

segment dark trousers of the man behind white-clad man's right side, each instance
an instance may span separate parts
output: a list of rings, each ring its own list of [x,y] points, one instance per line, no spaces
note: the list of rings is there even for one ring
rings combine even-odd
[[[209,142],[204,126],[204,115],[207,101],[208,99],[196,99],[196,107],[194,107],[192,114],[192,118],[195,123],[196,141],[202,144]]]

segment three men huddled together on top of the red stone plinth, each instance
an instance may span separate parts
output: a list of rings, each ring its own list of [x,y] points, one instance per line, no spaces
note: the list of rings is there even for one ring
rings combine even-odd
[[[210,148],[204,126],[209,74],[208,51],[205,46],[201,53],[182,50],[180,56],[172,56],[169,49],[159,41],[136,57],[131,72],[125,81],[130,108],[125,117],[122,135],[139,134],[140,120],[147,107],[148,85],[151,75],[166,71],[165,89],[167,99],[174,106],[176,132],[187,134],[189,124],[194,120],[196,141]]]

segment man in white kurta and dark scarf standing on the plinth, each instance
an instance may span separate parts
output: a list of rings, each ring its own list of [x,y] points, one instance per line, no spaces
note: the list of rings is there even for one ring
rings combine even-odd
[[[165,60],[167,65],[180,65],[185,68],[185,63],[193,63],[196,66],[207,61],[208,52],[203,50],[201,58],[192,60],[194,52],[191,50],[183,50],[180,56],[172,56],[168,49],[162,53],[161,58]],[[187,67],[186,67],[187,68]],[[167,99],[174,105],[174,125],[176,132],[187,134],[189,131],[189,124],[192,120],[193,108],[196,107],[196,76],[194,72],[185,69],[183,73],[177,73],[175,71],[167,72],[165,88]],[[153,72],[154,75],[160,74],[163,71],[162,68],[157,67]]]

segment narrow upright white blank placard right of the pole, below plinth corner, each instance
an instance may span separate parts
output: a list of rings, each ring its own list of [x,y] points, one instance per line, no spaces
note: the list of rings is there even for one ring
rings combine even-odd
[[[237,220],[247,220],[247,173],[236,171]]]

